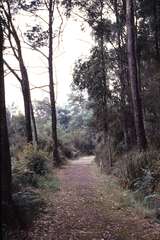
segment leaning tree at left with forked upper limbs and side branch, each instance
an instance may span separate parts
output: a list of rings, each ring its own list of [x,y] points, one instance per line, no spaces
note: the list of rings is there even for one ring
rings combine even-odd
[[[14,4],[14,2],[11,2],[11,3]],[[11,3],[8,0],[2,3],[1,8],[2,8],[2,14],[4,17],[3,23],[5,27],[6,38],[10,44],[10,47],[13,51],[13,54],[16,60],[18,61],[21,76],[19,77],[19,75],[13,70],[13,68],[6,61],[5,63],[6,63],[6,66],[9,68],[9,70],[14,74],[14,76],[19,80],[21,84],[22,94],[24,99],[26,138],[28,143],[32,143],[33,136],[32,136],[31,115],[34,123],[35,121],[34,121],[34,114],[32,111],[32,104],[31,104],[30,84],[29,84],[27,68],[24,62],[21,40],[13,21]],[[34,129],[35,129],[35,136],[37,136],[35,124],[34,124]]]

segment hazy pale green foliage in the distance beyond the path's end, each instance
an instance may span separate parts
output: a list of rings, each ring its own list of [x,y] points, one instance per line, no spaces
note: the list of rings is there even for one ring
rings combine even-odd
[[[49,111],[50,104],[47,99],[35,102],[39,145],[48,153],[52,152]],[[87,97],[79,91],[73,91],[67,106],[57,108],[59,152],[62,159],[93,152],[94,130],[90,124],[91,119],[92,110],[88,107]]]

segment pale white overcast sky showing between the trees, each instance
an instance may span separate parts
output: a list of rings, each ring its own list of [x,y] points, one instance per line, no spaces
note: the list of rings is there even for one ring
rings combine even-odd
[[[29,23],[31,25],[32,21],[30,17],[19,16],[18,19],[16,19],[16,24],[21,31],[24,31],[26,24]],[[87,57],[89,50],[94,44],[89,27],[85,25],[85,30],[82,31],[81,24],[80,21],[75,21],[73,18],[65,20],[60,44],[57,45],[57,40],[54,40],[54,81],[56,101],[57,105],[60,106],[67,104],[67,96],[71,92],[70,84],[72,82],[72,72],[75,61],[79,57]],[[28,49],[25,44],[22,45],[23,57],[29,74],[32,101],[49,97],[47,87],[44,88],[45,91],[34,88],[35,86],[48,84],[47,62],[41,54]],[[10,53],[5,56],[5,59],[12,67],[18,70],[18,64]],[[7,106],[11,106],[14,102],[18,109],[23,112],[23,98],[20,84],[12,74],[6,76],[5,87]]]

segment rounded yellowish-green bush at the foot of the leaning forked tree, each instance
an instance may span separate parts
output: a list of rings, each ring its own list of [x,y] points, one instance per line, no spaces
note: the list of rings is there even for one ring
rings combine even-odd
[[[38,187],[39,176],[45,176],[48,172],[46,153],[35,150],[32,145],[25,146],[13,164],[13,192],[23,187]]]

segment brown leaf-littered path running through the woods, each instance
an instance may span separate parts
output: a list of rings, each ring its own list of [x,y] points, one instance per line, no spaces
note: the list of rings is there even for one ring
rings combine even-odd
[[[58,170],[60,190],[23,237],[26,240],[160,240],[160,225],[120,207],[105,189],[93,157],[71,161]],[[114,193],[113,193],[114,194]],[[116,205],[117,201],[117,205]],[[21,237],[22,239],[22,237]]]

